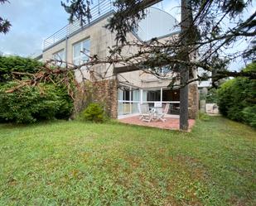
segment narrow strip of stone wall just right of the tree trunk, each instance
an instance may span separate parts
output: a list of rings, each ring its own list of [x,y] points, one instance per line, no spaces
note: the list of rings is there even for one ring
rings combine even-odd
[[[188,117],[190,119],[196,119],[199,108],[199,94],[197,84],[189,84],[188,93]]]

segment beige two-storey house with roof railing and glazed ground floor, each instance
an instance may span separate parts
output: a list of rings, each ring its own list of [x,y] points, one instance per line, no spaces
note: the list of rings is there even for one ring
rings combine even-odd
[[[149,7],[147,10],[147,17],[139,22],[137,31],[128,34],[128,41],[148,41],[152,37],[164,41],[179,33],[177,21],[169,13],[155,7]],[[91,21],[84,26],[75,22],[49,36],[43,43],[43,61],[56,59],[79,65],[88,60],[88,56],[81,51],[87,52],[88,55],[97,54],[102,59],[109,55],[108,47],[116,43],[115,34],[104,26],[114,14],[114,7],[111,1],[103,0],[91,9],[91,13]],[[126,55],[133,52],[133,47],[123,50]],[[106,76],[109,76],[108,79],[97,79],[96,84],[100,85],[98,96],[104,99],[111,117],[127,117],[138,113],[138,103],[149,103],[150,107],[154,103],[170,103],[168,113],[179,114],[179,89],[168,89],[171,75],[165,69],[161,71],[167,73],[165,79],[158,79],[140,70],[123,70],[113,75],[115,68],[108,68],[108,65],[96,65],[94,69],[99,74],[106,72]],[[86,69],[83,74],[75,72],[75,76],[79,82],[91,78]],[[198,110],[197,84],[190,84],[189,89],[189,116],[195,118]]]

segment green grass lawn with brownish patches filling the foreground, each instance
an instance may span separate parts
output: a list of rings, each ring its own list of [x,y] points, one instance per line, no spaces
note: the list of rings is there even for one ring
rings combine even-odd
[[[256,132],[118,123],[0,125],[0,205],[255,205]]]

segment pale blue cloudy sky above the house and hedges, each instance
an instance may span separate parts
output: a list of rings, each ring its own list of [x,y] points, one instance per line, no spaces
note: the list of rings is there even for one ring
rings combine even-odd
[[[9,2],[0,4],[1,17],[7,18],[12,23],[11,31],[6,35],[0,34],[0,51],[5,54],[22,56],[40,54],[43,40],[68,23],[68,14],[60,6],[60,0],[9,0]],[[94,0],[94,3],[97,2],[98,0]],[[164,0],[154,7],[171,13],[179,21],[181,17],[179,4],[179,0]],[[234,69],[239,69],[243,66],[243,62],[236,62],[232,66]]]

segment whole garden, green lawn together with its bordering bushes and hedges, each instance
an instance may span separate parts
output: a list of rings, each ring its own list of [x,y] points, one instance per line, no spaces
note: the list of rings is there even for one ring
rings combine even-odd
[[[110,120],[97,103],[68,121],[74,100],[61,84],[17,89],[41,63],[0,63],[0,205],[256,204],[253,80],[215,92],[225,117],[175,132]]]

